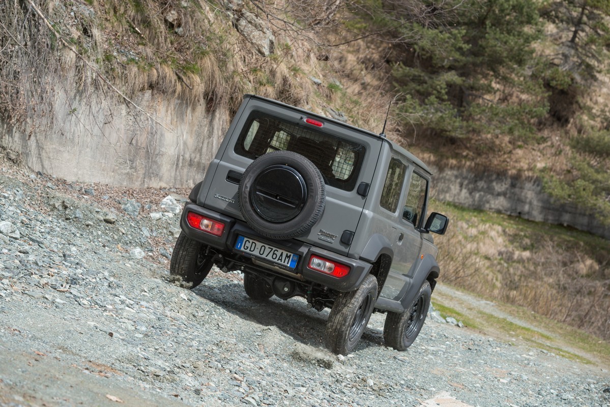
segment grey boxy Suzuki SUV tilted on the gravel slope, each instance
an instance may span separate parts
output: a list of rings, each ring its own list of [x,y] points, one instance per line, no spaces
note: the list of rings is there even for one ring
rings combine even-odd
[[[299,296],[330,308],[326,345],[346,355],[372,312],[405,350],[428,313],[439,266],[425,220],[430,171],[382,135],[245,95],[188,196],[170,273],[192,284],[240,270],[253,300]]]

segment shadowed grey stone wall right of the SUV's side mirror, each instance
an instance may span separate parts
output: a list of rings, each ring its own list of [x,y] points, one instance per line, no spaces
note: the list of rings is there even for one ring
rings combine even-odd
[[[520,178],[447,168],[434,171],[432,196],[473,209],[501,212],[537,222],[572,226],[610,239],[610,227],[578,207],[556,203],[539,178]]]

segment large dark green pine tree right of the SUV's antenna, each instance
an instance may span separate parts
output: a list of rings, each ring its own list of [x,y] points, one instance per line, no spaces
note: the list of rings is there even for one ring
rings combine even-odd
[[[394,71],[406,95],[401,110],[423,128],[451,137],[491,129],[523,136],[547,112],[542,88],[525,72],[540,37],[533,2],[465,1],[439,26],[401,29],[417,33]],[[516,93],[531,97],[516,101]]]

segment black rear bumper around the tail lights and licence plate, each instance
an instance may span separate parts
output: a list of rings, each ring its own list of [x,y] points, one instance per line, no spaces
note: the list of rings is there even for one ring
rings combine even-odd
[[[188,212],[195,212],[196,214],[224,223],[225,226],[222,236],[213,236],[212,234],[200,231],[199,229],[192,228],[192,226],[188,225],[186,219]],[[332,251],[308,245],[296,239],[267,239],[264,236],[260,236],[260,234],[253,231],[253,229],[249,228],[246,223],[220,214],[216,211],[211,211],[210,209],[206,209],[195,203],[187,203],[185,205],[180,219],[180,227],[190,239],[210,245],[211,247],[220,251],[223,254],[223,258],[226,259],[226,262],[234,262],[234,264],[243,265],[244,267],[248,267],[249,264],[254,264],[254,262],[256,262],[257,267],[251,267],[249,270],[254,273],[265,270],[267,273],[281,273],[283,276],[293,274],[296,280],[302,282],[307,281],[310,283],[317,283],[321,286],[329,287],[330,289],[348,292],[359,287],[362,280],[364,280],[365,276],[368,275],[371,269],[371,265],[367,262],[350,259],[346,256],[333,253]],[[274,264],[266,259],[257,258],[256,256],[252,256],[251,254],[235,249],[235,242],[239,235],[259,240],[260,242],[276,248],[281,248],[282,250],[289,251],[290,253],[298,254],[299,260],[296,267],[291,269],[284,265]],[[337,278],[326,275],[325,273],[311,270],[307,267],[307,264],[309,264],[309,258],[314,254],[331,261],[348,265],[350,267],[350,273],[342,278]],[[235,269],[239,269],[239,267],[235,267]]]

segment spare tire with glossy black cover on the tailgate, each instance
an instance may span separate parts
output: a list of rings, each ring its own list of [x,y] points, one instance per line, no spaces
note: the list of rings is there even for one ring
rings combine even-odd
[[[273,151],[246,168],[239,209],[255,231],[290,239],[309,231],[324,211],[326,187],[318,168],[301,154]]]

